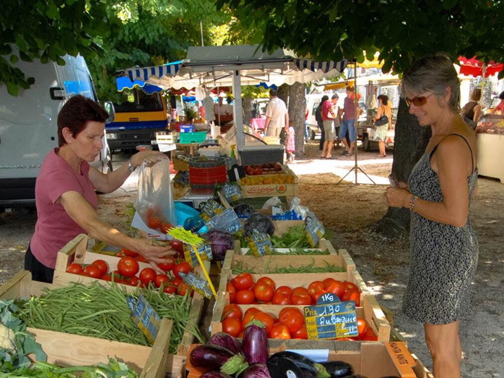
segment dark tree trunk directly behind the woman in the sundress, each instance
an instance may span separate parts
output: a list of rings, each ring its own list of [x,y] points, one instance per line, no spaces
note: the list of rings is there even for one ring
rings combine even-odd
[[[416,162],[422,157],[432,135],[430,127],[421,127],[414,115],[409,113],[404,99],[399,102],[394,137],[394,161],[392,175],[397,181],[408,182]],[[389,208],[387,214],[371,228],[394,238],[409,231],[408,209]]]

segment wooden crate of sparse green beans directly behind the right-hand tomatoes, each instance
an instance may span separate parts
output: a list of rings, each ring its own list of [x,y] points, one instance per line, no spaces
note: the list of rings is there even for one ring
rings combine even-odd
[[[321,240],[320,246],[321,250],[329,250],[329,255],[289,255],[290,258],[286,259],[285,256],[281,255],[263,257],[243,256],[242,250],[248,250],[248,248],[239,248],[238,243],[237,250],[227,251],[222,269],[227,272],[241,266],[242,269],[252,270],[257,274],[267,274],[267,269],[300,267],[308,264],[313,264],[314,267],[325,267],[327,264],[334,264],[338,267],[345,268],[346,272],[355,270],[355,263],[346,249],[339,249],[336,251],[326,239]]]

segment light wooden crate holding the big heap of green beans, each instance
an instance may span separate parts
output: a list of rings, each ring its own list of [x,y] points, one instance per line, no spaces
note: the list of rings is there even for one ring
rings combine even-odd
[[[0,298],[28,298],[41,295],[45,288],[59,287],[32,281],[30,272],[20,271],[0,287]],[[182,376],[185,354],[168,354],[171,328],[172,321],[163,319],[152,347],[30,327],[27,331],[42,345],[47,361],[58,366],[96,365],[107,363],[110,357],[128,364],[141,378],[162,378],[166,374],[178,378]]]

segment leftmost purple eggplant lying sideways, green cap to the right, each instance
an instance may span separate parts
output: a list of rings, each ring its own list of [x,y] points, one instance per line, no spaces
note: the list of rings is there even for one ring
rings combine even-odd
[[[220,370],[226,374],[239,373],[248,365],[241,354],[217,345],[198,345],[189,356],[194,366]]]

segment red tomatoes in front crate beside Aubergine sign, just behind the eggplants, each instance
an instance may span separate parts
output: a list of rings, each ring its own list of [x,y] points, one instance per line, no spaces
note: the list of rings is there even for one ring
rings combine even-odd
[[[284,307],[275,315],[261,311],[256,307],[248,308],[242,313],[236,303],[228,304],[222,312],[222,331],[233,337],[242,337],[243,331],[252,320],[263,323],[266,334],[270,339],[307,339],[306,325],[303,313],[296,307]],[[372,340],[376,341],[376,335],[362,318],[357,318],[359,335],[356,337],[340,338],[338,340]]]

